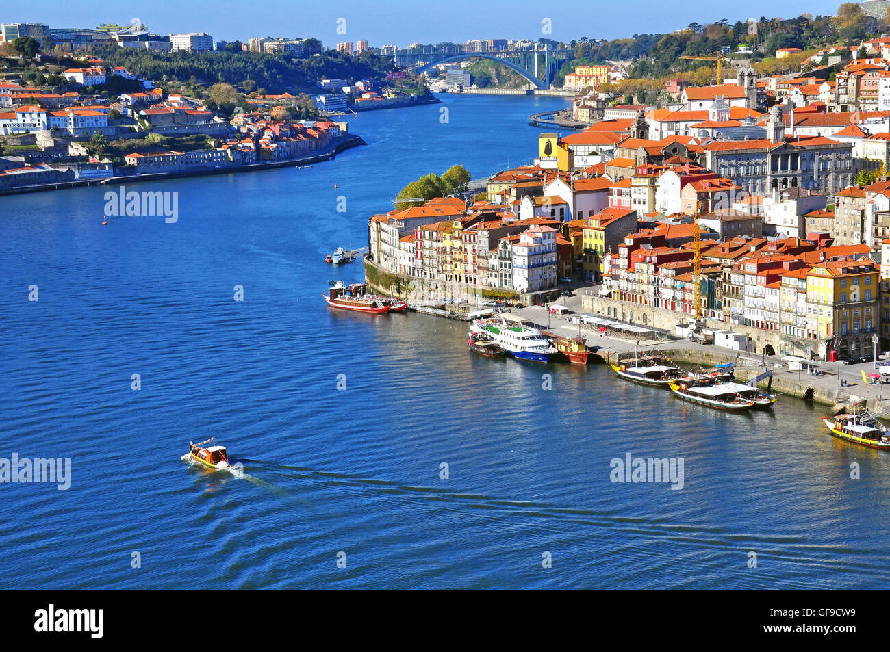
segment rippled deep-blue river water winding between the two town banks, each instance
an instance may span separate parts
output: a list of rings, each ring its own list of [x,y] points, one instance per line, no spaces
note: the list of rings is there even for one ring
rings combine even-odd
[[[309,169],[133,187],[178,191],[175,224],[101,226],[104,188],[0,197],[0,457],[71,460],[68,491],[0,484],[0,588],[888,585],[890,455],[829,437],[819,406],[717,414],[324,305],[361,273],[324,254],[405,183],[524,164],[525,117],[562,105],[444,100],[447,124],[362,114],[368,147]],[[212,435],[245,477],[181,461]],[[628,452],[682,457],[684,488],[612,483]]]

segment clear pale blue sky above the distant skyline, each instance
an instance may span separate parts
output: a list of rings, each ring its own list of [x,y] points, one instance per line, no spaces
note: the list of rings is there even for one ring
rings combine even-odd
[[[51,28],[93,28],[101,22],[125,24],[142,20],[161,34],[206,31],[216,40],[250,36],[314,36],[322,43],[367,39],[371,45],[413,42],[464,42],[470,38],[533,38],[542,20],[553,25],[556,40],[580,36],[616,38],[635,33],[662,33],[705,23],[749,17],[790,18],[802,12],[833,14],[840,0],[751,0],[732,7],[700,0],[659,2],[542,2],[540,0],[340,0],[301,3],[286,0],[0,0],[0,22],[42,22]],[[337,19],[346,20],[346,35],[336,33]]]

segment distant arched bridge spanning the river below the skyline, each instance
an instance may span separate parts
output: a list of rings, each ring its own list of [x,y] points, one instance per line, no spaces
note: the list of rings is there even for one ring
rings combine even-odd
[[[449,61],[465,61],[469,59],[488,59],[497,61],[507,68],[519,73],[535,88],[550,88],[550,81],[562,64],[574,57],[573,50],[551,49],[548,46],[528,50],[497,50],[490,52],[457,52],[457,49],[410,48],[399,50],[395,54],[396,66],[415,68],[415,72],[423,74],[433,66]]]

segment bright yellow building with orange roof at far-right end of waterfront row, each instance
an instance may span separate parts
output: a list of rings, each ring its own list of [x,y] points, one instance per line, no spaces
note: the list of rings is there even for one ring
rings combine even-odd
[[[880,278],[868,259],[821,262],[806,276],[806,331],[822,358],[872,355],[878,333]]]

